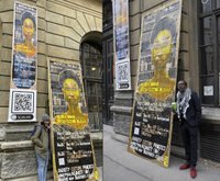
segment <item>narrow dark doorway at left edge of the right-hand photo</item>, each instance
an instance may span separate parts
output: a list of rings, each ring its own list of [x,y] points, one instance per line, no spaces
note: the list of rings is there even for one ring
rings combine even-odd
[[[112,2],[103,1],[103,123],[113,124],[113,113],[110,108],[114,103],[113,84],[113,24],[112,24]]]

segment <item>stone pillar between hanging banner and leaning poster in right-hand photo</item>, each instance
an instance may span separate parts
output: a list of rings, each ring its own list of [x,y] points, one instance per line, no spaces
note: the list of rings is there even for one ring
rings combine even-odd
[[[141,32],[141,4],[142,0],[129,1],[130,15],[130,64],[131,64],[131,91],[116,91],[113,112],[113,129],[117,139],[128,143],[133,109],[133,93],[136,84],[136,66],[139,59],[139,44]]]

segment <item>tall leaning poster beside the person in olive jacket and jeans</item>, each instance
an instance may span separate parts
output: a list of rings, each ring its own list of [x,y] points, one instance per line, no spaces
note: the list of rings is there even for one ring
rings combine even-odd
[[[79,63],[48,60],[55,181],[98,180]]]

